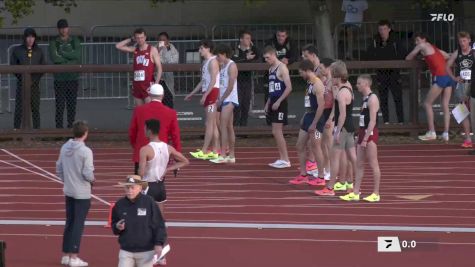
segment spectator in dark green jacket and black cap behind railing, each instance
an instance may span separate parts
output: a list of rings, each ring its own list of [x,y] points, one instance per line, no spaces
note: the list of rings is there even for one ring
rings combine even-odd
[[[58,20],[59,36],[50,42],[49,54],[51,61],[58,65],[81,64],[81,41],[70,36],[68,21]],[[68,111],[68,128],[73,125],[76,117],[76,103],[79,88],[78,73],[55,73],[54,96],[56,99],[56,128],[63,128],[64,108]]]

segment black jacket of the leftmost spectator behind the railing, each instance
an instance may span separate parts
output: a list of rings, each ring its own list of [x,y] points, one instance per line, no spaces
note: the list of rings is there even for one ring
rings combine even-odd
[[[31,55],[31,57],[30,57]],[[16,46],[13,48],[13,52],[10,57],[10,65],[45,65],[46,58],[43,50],[39,48],[36,43],[31,48],[29,53],[25,44]],[[38,82],[43,74],[32,74],[31,78],[33,82]],[[16,77],[21,81],[21,75],[17,74]]]

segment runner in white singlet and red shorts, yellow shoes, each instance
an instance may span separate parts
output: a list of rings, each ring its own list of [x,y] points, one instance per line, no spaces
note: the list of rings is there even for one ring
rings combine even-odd
[[[195,89],[189,93],[185,100],[189,101],[191,97],[201,90],[203,96],[200,104],[205,108],[205,140],[201,150],[190,152],[197,159],[217,159],[219,157],[219,132],[217,126],[217,106],[216,102],[219,97],[219,64],[216,56],[213,55],[214,43],[209,40],[200,42],[199,52],[204,59],[201,67],[201,81],[196,85]],[[214,144],[214,151],[208,151],[211,142]]]

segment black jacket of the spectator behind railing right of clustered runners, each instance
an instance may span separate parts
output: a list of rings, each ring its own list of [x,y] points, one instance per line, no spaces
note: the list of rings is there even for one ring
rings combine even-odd
[[[376,34],[366,52],[368,60],[403,60],[407,54],[406,49],[393,31],[389,32],[386,42],[383,42],[381,36]]]

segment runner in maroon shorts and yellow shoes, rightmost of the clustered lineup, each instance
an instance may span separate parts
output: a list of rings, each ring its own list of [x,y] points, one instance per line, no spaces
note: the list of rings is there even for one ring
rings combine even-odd
[[[381,172],[378,163],[378,96],[371,91],[372,79],[368,74],[358,77],[356,87],[363,95],[363,105],[360,113],[360,128],[358,131],[357,160],[355,173],[355,187],[353,192],[340,196],[345,201],[360,200],[360,188],[364,175],[364,164],[368,160],[369,166],[373,170],[374,189],[373,193],[364,198],[369,202],[380,201],[379,184],[381,181]]]

